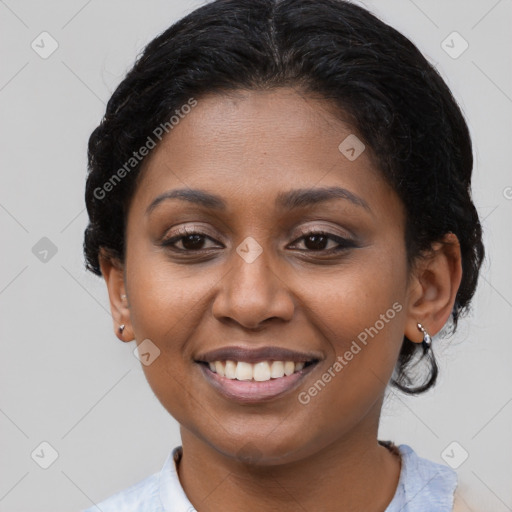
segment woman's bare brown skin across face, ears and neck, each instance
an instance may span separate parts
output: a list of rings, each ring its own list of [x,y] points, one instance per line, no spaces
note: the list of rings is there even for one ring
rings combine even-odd
[[[419,343],[418,322],[434,335],[448,320],[460,248],[449,234],[408,268],[401,201],[369,148],[355,161],[338,149],[353,132],[327,101],[291,88],[199,98],[145,162],[125,261],[101,257],[116,334],[137,344],[149,338],[161,351],[143,369],[181,425],[179,477],[199,512],[338,511],[340,504],[378,512],[393,498],[400,460],[377,443],[384,392],[403,335]],[[281,192],[332,186],[368,208],[343,198],[290,211],[274,205]],[[187,187],[220,196],[226,209],[169,199],[147,214],[160,194]],[[206,256],[162,246],[184,226],[206,235]],[[307,237],[315,230],[354,246],[329,255],[338,242],[318,248]],[[263,250],[252,263],[236,252],[249,236]],[[186,250],[183,240],[176,246]],[[301,404],[298,394],[394,303],[402,306],[394,318]],[[194,362],[235,344],[313,351],[321,360],[297,390],[240,404]]]

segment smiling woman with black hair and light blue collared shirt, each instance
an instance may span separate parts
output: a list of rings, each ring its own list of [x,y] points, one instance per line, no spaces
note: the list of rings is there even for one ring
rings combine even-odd
[[[217,0],[152,41],[89,141],[84,249],[182,446],[98,507],[453,510],[377,431],[474,294],[471,172],[448,87],[361,7]]]

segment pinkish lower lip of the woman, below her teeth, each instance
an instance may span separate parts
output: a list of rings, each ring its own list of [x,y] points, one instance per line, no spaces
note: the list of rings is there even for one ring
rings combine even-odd
[[[255,403],[273,400],[293,391],[316,364],[306,366],[291,375],[263,382],[228,379],[212,372],[204,364],[199,364],[199,366],[206,380],[225,397],[237,402]]]

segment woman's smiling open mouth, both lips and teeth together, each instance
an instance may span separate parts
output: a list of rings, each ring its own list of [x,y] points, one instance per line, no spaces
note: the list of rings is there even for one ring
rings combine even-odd
[[[226,347],[196,359],[207,381],[225,397],[244,403],[267,401],[300,385],[321,355],[278,347]]]

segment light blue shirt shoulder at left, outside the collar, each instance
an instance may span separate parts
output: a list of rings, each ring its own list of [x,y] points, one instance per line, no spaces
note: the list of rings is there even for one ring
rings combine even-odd
[[[154,473],[83,512],[160,512],[158,476]]]

